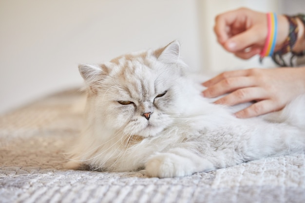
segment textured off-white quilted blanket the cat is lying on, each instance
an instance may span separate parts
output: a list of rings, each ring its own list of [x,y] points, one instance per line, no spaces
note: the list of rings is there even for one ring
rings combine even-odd
[[[304,154],[183,178],[65,170],[83,102],[62,92],[0,117],[0,203],[305,203]]]

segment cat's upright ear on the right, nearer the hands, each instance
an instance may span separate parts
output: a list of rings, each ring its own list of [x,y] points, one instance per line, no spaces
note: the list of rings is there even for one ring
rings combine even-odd
[[[159,61],[165,63],[175,63],[180,57],[180,43],[175,40],[165,47],[157,49],[153,52]]]

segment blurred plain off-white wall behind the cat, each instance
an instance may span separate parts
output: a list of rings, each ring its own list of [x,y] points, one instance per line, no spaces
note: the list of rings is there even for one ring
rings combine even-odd
[[[214,17],[239,7],[304,12],[304,0],[0,0],[0,114],[82,85],[78,63],[158,48],[174,39],[194,71],[263,66],[226,53]]]

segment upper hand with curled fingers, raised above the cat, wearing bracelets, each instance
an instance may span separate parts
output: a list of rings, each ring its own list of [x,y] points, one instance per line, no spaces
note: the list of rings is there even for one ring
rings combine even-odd
[[[285,16],[277,15],[278,35],[275,51],[281,49],[288,36],[289,23]],[[260,54],[267,37],[267,15],[248,8],[240,8],[218,15],[214,32],[218,42],[237,57],[248,59]]]

